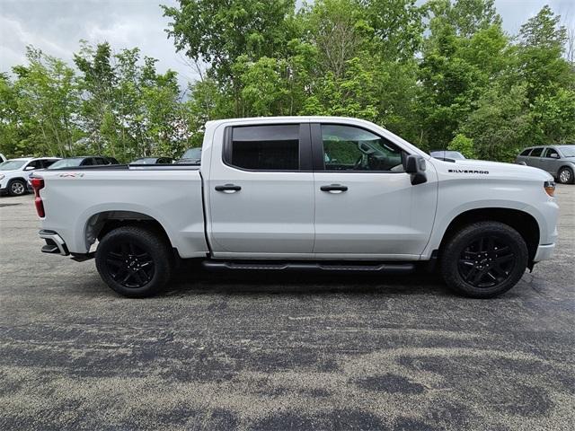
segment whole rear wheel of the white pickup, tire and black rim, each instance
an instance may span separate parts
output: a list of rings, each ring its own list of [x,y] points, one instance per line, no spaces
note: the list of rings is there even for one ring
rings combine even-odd
[[[96,250],[96,268],[119,295],[142,298],[164,288],[172,276],[173,255],[159,233],[123,226],[102,238]]]

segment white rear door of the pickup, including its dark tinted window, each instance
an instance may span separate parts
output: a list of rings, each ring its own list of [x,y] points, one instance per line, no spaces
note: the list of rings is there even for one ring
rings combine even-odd
[[[228,126],[208,175],[215,257],[305,257],[314,248],[309,124]]]

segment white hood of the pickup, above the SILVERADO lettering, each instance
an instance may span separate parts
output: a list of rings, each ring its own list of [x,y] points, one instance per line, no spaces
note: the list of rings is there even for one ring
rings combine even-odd
[[[473,170],[486,171],[490,175],[499,177],[524,178],[526,180],[553,181],[553,176],[541,169],[531,166],[525,166],[515,163],[490,162],[487,160],[456,160],[453,162],[444,162],[438,159],[432,159],[436,166],[441,165],[442,170]]]

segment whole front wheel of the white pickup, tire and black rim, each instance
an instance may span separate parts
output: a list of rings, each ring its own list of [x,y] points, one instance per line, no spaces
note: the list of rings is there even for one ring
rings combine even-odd
[[[507,292],[525,273],[526,242],[515,229],[499,222],[479,222],[457,232],[441,253],[447,286],[473,298]]]

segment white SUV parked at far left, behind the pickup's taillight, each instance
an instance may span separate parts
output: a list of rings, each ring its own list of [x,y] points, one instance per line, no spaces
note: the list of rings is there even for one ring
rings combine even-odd
[[[22,157],[0,164],[0,195],[22,196],[28,191],[31,172],[48,168],[58,157]]]

